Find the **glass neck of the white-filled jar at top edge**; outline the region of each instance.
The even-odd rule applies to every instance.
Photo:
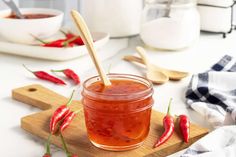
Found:
[[[159,8],[163,8],[165,9],[167,6],[167,2],[168,0],[145,0],[146,5],[153,5]],[[171,8],[189,8],[189,7],[193,7],[196,6],[197,1],[196,0],[189,0],[188,2],[173,2],[173,4],[171,4]]]

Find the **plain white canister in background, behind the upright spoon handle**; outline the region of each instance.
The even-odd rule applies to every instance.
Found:
[[[107,32],[111,37],[140,32],[143,0],[81,0],[80,10],[91,31]]]

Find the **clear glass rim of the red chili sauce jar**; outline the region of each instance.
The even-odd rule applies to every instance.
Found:
[[[152,94],[153,93],[153,84],[151,81],[149,81],[148,79],[138,76],[138,75],[132,75],[132,74],[119,74],[119,73],[110,73],[107,74],[109,79],[123,79],[123,80],[135,80],[136,82],[140,82],[143,85],[146,85],[148,88],[143,90],[143,91],[139,91],[139,92],[135,92],[132,93],[131,96],[135,97],[135,96],[139,96],[139,95],[148,95],[148,94]],[[89,90],[87,87],[91,84],[90,81],[92,81],[91,83],[97,82],[97,81],[101,81],[99,76],[93,76],[88,78],[86,81],[84,81],[83,83],[83,92],[85,92],[86,95],[92,96],[92,97],[96,97],[96,96],[102,96],[102,97],[127,97],[128,95],[130,95],[130,93],[119,93],[119,94],[108,94],[108,93],[101,93],[101,92],[94,92],[92,90]]]

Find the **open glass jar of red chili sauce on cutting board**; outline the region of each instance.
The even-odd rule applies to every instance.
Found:
[[[149,132],[152,83],[128,74],[109,74],[111,86],[98,76],[83,84],[82,103],[90,141],[106,150],[139,147]]]

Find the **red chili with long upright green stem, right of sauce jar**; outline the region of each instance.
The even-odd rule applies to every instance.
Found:
[[[171,105],[172,99],[170,99],[167,114],[163,119],[163,126],[165,128],[164,133],[161,135],[161,137],[158,139],[158,141],[154,144],[153,148],[156,148],[163,143],[165,143],[174,133],[174,117],[170,115],[170,105]]]

